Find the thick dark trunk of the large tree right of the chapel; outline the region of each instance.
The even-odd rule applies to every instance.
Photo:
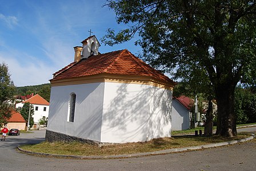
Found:
[[[226,83],[215,87],[218,105],[216,135],[223,137],[237,136],[236,117],[234,112],[234,84]]]

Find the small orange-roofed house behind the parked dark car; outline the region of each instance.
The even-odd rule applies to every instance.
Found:
[[[8,120],[7,128],[13,129],[17,128],[19,130],[25,130],[26,127],[26,120],[22,117],[21,113],[17,111],[11,112],[11,117]]]

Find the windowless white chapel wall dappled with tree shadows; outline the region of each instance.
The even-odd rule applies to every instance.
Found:
[[[170,137],[170,90],[145,84],[105,85],[102,143],[126,143]]]

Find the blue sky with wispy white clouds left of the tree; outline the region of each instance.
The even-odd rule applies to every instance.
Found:
[[[0,63],[7,64],[14,85],[50,83],[54,72],[74,61],[75,46],[95,35],[106,53],[127,49],[138,56],[135,38],[113,47],[101,38],[107,28],[121,30],[103,0],[0,0]]]

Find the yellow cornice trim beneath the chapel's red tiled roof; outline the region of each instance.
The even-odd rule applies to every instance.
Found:
[[[82,76],[78,78],[68,78],[59,80],[50,80],[51,86],[68,86],[73,84],[89,84],[89,83],[126,83],[126,84],[145,84],[159,88],[173,90],[174,84],[162,82],[161,80],[151,79],[148,76],[133,75],[113,75],[113,74],[97,74],[92,76]]]

